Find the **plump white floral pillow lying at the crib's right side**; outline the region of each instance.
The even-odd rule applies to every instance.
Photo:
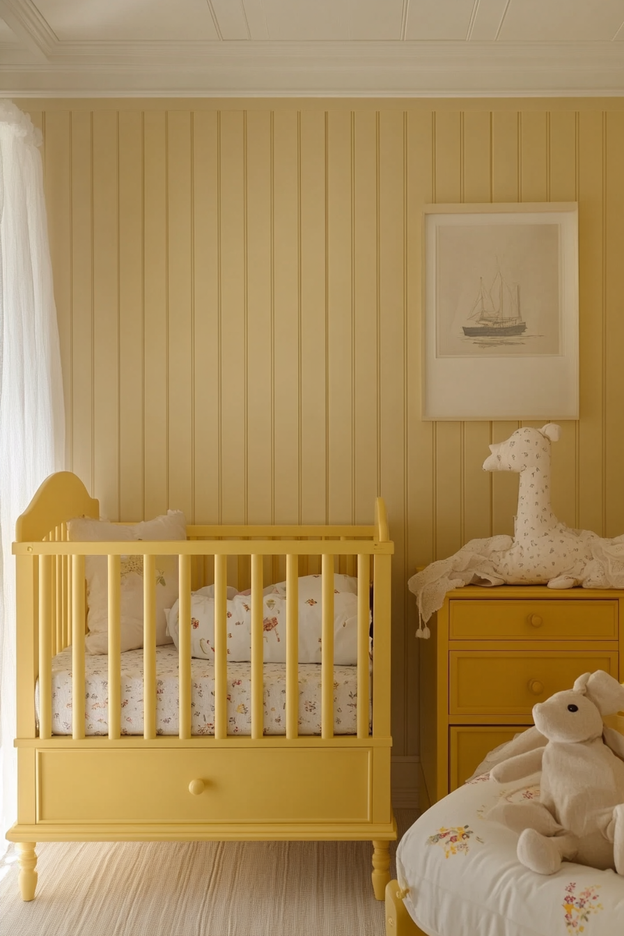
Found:
[[[321,662],[321,577],[299,578],[299,663]],[[265,663],[286,661],[286,583],[264,590]],[[168,612],[169,634],[178,641],[178,602]],[[250,592],[227,589],[227,659],[251,660],[252,599]],[[191,656],[214,659],[214,585],[191,596]],[[357,663],[357,579],[334,576],[334,663]]]

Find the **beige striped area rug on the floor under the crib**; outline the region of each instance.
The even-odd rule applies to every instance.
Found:
[[[417,812],[396,814],[400,836]],[[384,936],[371,855],[367,841],[43,843],[36,899],[23,903],[12,846],[0,866],[0,933]]]

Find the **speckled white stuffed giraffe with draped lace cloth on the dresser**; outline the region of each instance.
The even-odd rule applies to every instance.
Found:
[[[484,471],[520,476],[515,535],[472,539],[410,578],[419,616],[416,636],[429,636],[428,619],[443,606],[446,592],[462,585],[624,588],[624,535],[602,539],[589,530],[571,529],[553,513],[550,448],[559,434],[555,423],[542,429],[524,426],[505,442],[489,446]]]

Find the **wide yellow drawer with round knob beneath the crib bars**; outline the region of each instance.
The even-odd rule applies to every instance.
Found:
[[[362,822],[370,777],[366,748],[45,750],[37,822]]]

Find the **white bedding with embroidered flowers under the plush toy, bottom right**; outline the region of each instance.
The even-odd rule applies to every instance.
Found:
[[[488,774],[444,797],[414,823],[397,851],[405,905],[428,936],[615,936],[624,933],[624,878],[564,862],[551,876],[517,860],[517,834],[482,818],[500,798],[539,797],[533,783]]]

